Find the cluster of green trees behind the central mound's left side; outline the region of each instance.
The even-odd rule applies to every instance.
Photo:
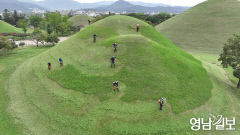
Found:
[[[68,21],[68,18],[69,16],[61,15],[59,12],[26,16],[16,10],[12,13],[7,9],[4,10],[3,15],[0,17],[1,20],[21,28],[25,33],[21,35],[30,35],[30,39],[37,46],[39,46],[39,43],[44,44],[45,42],[54,45],[58,43],[59,36],[67,36],[77,32],[78,28],[73,26]],[[29,30],[32,31],[31,34],[26,34]],[[1,40],[3,39],[1,38]],[[4,43],[6,43],[5,40]]]

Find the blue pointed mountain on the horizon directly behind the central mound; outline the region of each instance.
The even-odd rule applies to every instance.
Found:
[[[124,0],[119,0],[109,6],[95,8],[96,11],[112,11],[112,12],[127,12],[127,13],[152,13],[152,12],[168,12],[168,13],[181,13],[187,10],[188,7],[166,7],[166,6],[157,6],[157,7],[145,7],[140,5],[134,5]]]

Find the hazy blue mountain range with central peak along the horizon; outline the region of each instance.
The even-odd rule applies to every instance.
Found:
[[[144,3],[139,1],[126,2],[123,0],[114,1],[100,1],[96,3],[79,3],[75,0],[21,0],[37,4],[51,10],[77,10],[77,9],[94,9],[96,11],[112,11],[112,12],[169,12],[181,13],[188,9],[188,7],[172,7],[166,4]]]

